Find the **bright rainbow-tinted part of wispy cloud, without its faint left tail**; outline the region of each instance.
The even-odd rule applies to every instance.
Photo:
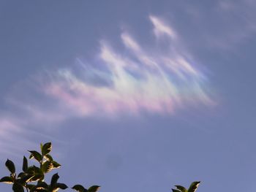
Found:
[[[158,43],[167,42],[165,53],[140,46],[123,31],[124,50],[100,43],[97,56],[102,69],[78,59],[79,72],[59,69],[45,92],[80,116],[167,114],[191,104],[214,104],[206,75],[182,48],[181,37],[162,19],[150,15],[149,20]]]

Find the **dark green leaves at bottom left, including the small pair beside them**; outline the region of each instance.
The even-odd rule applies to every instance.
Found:
[[[14,192],[56,192],[59,189],[67,189],[67,185],[64,183],[59,183],[58,173],[53,174],[50,183],[45,183],[45,174],[52,171],[53,169],[58,169],[61,165],[53,160],[50,155],[52,145],[50,142],[40,145],[41,152],[36,150],[29,150],[29,159],[34,158],[39,166],[29,166],[28,159],[23,157],[22,172],[17,173],[15,169],[15,164],[7,159],[5,166],[10,171],[10,176],[2,177],[0,182],[12,185],[12,191]],[[99,189],[98,185],[93,185],[86,189],[83,185],[74,185],[73,190],[78,192],[96,192]]]

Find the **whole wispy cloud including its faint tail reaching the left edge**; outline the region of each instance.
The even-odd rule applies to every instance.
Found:
[[[28,130],[50,138],[53,127],[72,118],[172,115],[198,104],[214,105],[206,74],[182,48],[181,37],[162,19],[150,15],[148,20],[154,32],[150,48],[123,31],[117,39],[123,48],[102,40],[89,62],[77,58],[72,66],[48,69],[19,85],[18,94],[8,95],[10,112],[0,112],[1,147],[11,137],[20,146]],[[154,45],[162,38],[165,53]],[[45,133],[37,129],[42,125]]]

